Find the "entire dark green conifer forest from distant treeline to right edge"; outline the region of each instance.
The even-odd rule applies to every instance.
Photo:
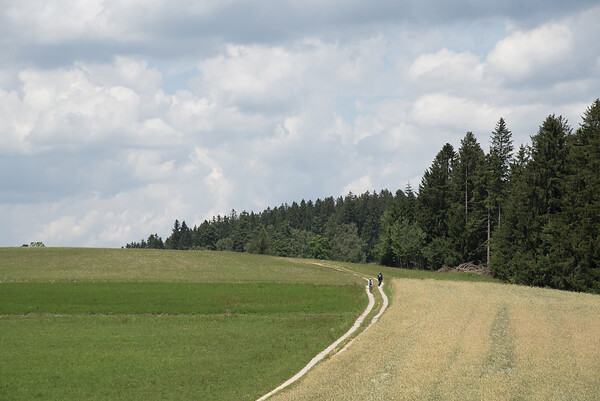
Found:
[[[222,250],[439,269],[472,262],[511,283],[600,293],[600,99],[573,130],[549,115],[515,149],[500,118],[486,153],[472,132],[410,185],[262,212],[175,220],[128,248]]]

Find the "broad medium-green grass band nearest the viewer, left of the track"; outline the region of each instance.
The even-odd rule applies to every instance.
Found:
[[[354,313],[0,318],[0,399],[255,400]]]

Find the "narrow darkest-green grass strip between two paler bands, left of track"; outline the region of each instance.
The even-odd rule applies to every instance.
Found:
[[[361,285],[290,283],[0,283],[0,315],[345,313]]]

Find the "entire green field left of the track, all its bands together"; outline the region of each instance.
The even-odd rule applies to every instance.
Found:
[[[0,249],[0,399],[256,399],[366,303],[359,278],[310,261]]]

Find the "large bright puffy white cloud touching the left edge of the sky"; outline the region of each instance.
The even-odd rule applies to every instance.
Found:
[[[0,89],[4,152],[49,151],[67,144],[76,150],[126,143],[128,138],[164,146],[181,136],[169,120],[179,122],[184,113],[177,110],[187,103],[166,96],[161,74],[145,61],[118,57],[113,64],[27,69],[19,79],[20,90]],[[202,126],[198,118],[194,123]]]

